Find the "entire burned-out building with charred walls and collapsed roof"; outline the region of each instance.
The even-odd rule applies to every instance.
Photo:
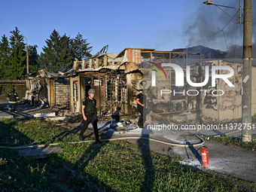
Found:
[[[168,63],[179,66],[183,72],[176,76]],[[212,86],[211,75],[202,87],[191,86],[190,82],[205,81],[206,66],[209,66],[209,74],[212,74],[212,66],[231,67],[234,75],[229,81],[234,87],[227,86],[221,78]],[[125,48],[118,54],[100,51],[90,59],[76,60],[69,72],[50,74],[41,70],[29,75],[26,81],[30,94],[35,94],[37,87],[32,82],[40,82],[41,99],[50,107],[67,106],[73,113],[81,113],[82,102],[88,90],[93,88],[100,117],[135,119],[139,114],[136,96],[148,89],[148,114],[158,114],[169,122],[242,117],[242,64],[220,59],[203,60],[200,53],[138,48]],[[176,81],[183,84],[176,86]],[[252,81],[254,84],[254,76]],[[252,115],[254,112],[256,104],[252,102]]]

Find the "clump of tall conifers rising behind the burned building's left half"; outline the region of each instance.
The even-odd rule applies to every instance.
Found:
[[[70,38],[66,34],[59,35],[54,29],[50,38],[43,47],[43,53],[38,56],[39,69],[47,72],[66,72],[72,69],[75,58],[78,60],[88,59],[92,47],[89,47],[87,39],[78,32],[75,38]]]

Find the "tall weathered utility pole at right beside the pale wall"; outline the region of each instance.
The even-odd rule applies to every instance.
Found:
[[[251,142],[251,0],[244,0],[242,54],[242,142]]]

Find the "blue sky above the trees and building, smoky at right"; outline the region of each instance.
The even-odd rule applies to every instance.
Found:
[[[38,45],[38,53],[54,29],[71,38],[80,32],[93,46],[92,54],[107,44],[108,53],[120,53],[126,47],[172,50],[200,44],[227,50],[233,44],[242,45],[242,25],[216,6],[203,2],[1,0],[0,36],[9,38],[17,26],[30,45]],[[239,7],[239,0],[213,2]],[[256,20],[255,2],[252,0],[252,20]],[[235,9],[223,9],[236,14]],[[210,35],[213,36],[208,38]]]

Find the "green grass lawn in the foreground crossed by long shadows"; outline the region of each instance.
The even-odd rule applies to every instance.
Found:
[[[87,139],[94,140],[93,134]],[[0,191],[255,191],[256,184],[178,163],[178,157],[127,142],[78,141],[78,132],[45,120],[0,122],[0,145],[61,142],[59,154],[23,157],[0,148]]]

